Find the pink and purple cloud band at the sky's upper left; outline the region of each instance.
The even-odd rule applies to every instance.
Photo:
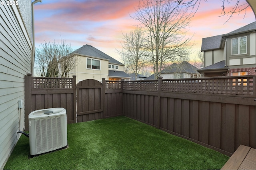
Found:
[[[39,12],[52,11],[51,17],[56,17],[59,20],[106,21],[122,18],[134,12],[134,6],[137,3],[137,0],[66,1],[38,5],[35,9]]]

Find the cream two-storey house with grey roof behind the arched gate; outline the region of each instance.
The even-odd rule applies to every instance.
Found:
[[[106,80],[130,79],[130,76],[124,72],[124,64],[91,45],[86,44],[72,53],[79,62],[69,75],[76,75],[78,82],[85,79],[95,79],[101,82],[102,78]]]

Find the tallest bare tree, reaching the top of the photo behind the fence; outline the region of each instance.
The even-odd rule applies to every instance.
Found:
[[[154,66],[155,78],[165,63],[188,56],[191,37],[186,36],[191,18],[190,8],[173,0],[142,0],[134,19],[147,33],[147,47]]]

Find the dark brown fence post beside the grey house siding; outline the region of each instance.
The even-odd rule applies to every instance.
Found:
[[[24,107],[25,107],[25,131],[28,131],[28,115],[32,112],[32,74],[28,73],[25,78],[25,100],[24,100]]]

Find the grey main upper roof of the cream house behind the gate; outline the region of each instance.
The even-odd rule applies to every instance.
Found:
[[[113,59],[112,57],[110,57],[109,55],[103,53],[102,51],[96,49],[95,47],[92,47],[92,45],[83,45],[82,47],[80,47],[79,49],[73,51],[74,54],[80,54],[80,55],[86,55],[86,56],[90,56],[90,57],[96,57],[99,59],[105,59],[108,60],[108,63],[111,64],[118,64],[118,65],[124,65],[122,63],[120,63],[119,61],[117,61],[116,59]]]

